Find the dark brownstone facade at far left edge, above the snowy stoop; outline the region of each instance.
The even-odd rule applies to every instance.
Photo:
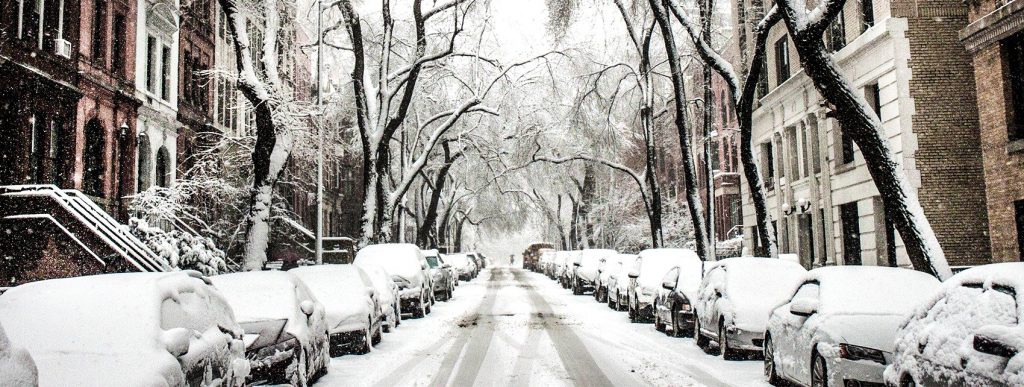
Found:
[[[74,186],[79,12],[0,0],[0,185]]]

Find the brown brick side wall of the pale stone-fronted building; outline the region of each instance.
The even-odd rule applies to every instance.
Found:
[[[908,22],[921,205],[951,265],[987,263],[974,71],[957,35],[967,26],[967,7],[957,0],[915,8],[893,1],[893,15]]]

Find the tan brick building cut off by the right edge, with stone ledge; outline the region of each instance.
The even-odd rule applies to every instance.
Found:
[[[966,3],[992,261],[1024,260],[1024,1]]]

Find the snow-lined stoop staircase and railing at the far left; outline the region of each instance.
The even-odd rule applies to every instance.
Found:
[[[163,258],[135,238],[128,227],[79,190],[61,189],[48,184],[0,186],[0,219],[27,218],[49,219],[75,240],[102,245],[90,246],[91,250],[111,251],[138,271],[172,270]],[[83,232],[88,235],[82,234]],[[95,255],[91,251],[90,254]]]

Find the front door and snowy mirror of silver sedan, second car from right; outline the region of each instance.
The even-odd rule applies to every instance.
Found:
[[[820,302],[820,296],[821,285],[816,281],[807,282],[800,286],[787,305],[792,306],[794,301],[799,300]],[[811,346],[815,338],[814,333],[810,332],[809,329],[814,326],[814,320],[821,317],[818,313],[798,315],[792,311],[783,310],[783,312],[786,312],[783,337],[776,339],[774,345],[779,349],[784,348],[784,352],[780,354],[787,359],[787,361],[782,361],[788,365],[785,368],[785,375],[797,382],[809,385],[811,380]]]

